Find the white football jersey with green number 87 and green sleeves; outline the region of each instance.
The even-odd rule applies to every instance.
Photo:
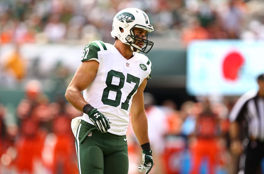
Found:
[[[125,135],[132,98],[143,80],[151,77],[151,62],[140,53],[127,60],[112,44],[102,41],[84,47],[82,62],[89,60],[98,61],[99,68],[92,84],[83,91],[84,99],[112,121],[108,132]],[[82,119],[93,124],[85,113]]]

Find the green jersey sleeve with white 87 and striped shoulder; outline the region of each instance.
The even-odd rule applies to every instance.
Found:
[[[102,50],[107,50],[105,44],[102,41],[93,41],[85,45],[82,54],[82,62],[88,60],[98,61],[98,52]]]

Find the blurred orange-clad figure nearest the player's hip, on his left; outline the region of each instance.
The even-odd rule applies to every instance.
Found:
[[[78,173],[74,136],[71,133],[71,114],[67,113],[64,97],[51,103],[54,119],[52,133],[46,136],[42,150],[43,166],[51,173]]]

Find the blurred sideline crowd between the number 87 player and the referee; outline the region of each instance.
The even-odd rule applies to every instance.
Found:
[[[202,97],[178,107],[165,100],[157,105],[155,96],[144,93],[148,134],[153,150],[154,174],[233,174],[237,172],[229,150],[228,114],[234,104]],[[130,166],[140,158],[135,136],[128,130]],[[134,141],[131,141],[134,140]],[[132,158],[133,157],[133,158]],[[130,167],[131,174],[138,174]]]

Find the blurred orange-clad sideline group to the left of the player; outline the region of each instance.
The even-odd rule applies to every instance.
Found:
[[[42,88],[29,81],[16,112],[0,103],[0,173],[78,173],[71,119],[82,113],[64,96],[50,102]]]

